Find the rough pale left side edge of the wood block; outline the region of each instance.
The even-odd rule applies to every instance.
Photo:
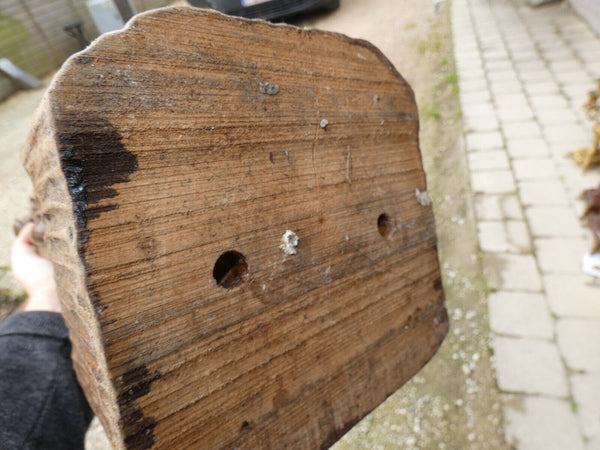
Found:
[[[55,79],[56,80],[56,79]],[[80,233],[62,171],[50,112],[52,86],[34,114],[21,160],[33,180],[33,220],[45,224],[43,251],[55,270],[63,316],[70,330],[73,366],[113,448],[123,448],[117,395],[104,356],[100,324],[87,291]]]

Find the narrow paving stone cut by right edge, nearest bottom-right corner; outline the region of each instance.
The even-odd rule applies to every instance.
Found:
[[[573,374],[570,380],[583,435],[600,443],[600,374]]]

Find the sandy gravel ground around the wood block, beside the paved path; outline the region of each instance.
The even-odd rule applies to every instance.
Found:
[[[488,345],[486,286],[461,140],[448,4],[435,13],[433,1],[341,3],[338,11],[299,24],[372,42],[415,91],[451,330],[432,361],[335,448],[507,448]],[[0,236],[5,237],[0,239],[0,266],[8,265],[12,218],[30,192],[18,150],[41,94],[21,93],[0,105]],[[0,287],[15,288],[1,271]],[[88,433],[86,448],[109,448],[98,424]]]

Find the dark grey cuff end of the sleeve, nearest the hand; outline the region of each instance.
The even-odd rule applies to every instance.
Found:
[[[56,339],[69,337],[62,314],[50,311],[23,311],[11,314],[0,323],[0,336],[27,334]]]

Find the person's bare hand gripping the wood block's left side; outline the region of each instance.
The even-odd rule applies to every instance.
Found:
[[[33,227],[31,222],[26,224],[17,235],[12,248],[13,276],[27,292],[27,299],[19,309],[61,312],[54,267],[50,261],[40,256],[31,240]]]

